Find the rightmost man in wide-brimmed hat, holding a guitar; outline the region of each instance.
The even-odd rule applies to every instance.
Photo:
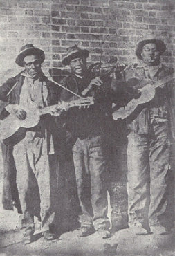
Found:
[[[136,55],[142,64],[127,68],[127,84],[140,89],[171,74],[172,69],[160,63],[165,48],[158,39],[140,42]],[[174,136],[172,81],[159,86],[153,100],[140,105],[128,122],[129,226],[136,234],[150,232],[150,228],[163,234],[172,227],[168,211],[170,138]]]

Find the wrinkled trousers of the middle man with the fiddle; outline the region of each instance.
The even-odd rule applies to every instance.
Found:
[[[82,214],[82,227],[109,228],[107,217],[107,161],[102,136],[77,138],[73,146],[73,161],[77,194]]]

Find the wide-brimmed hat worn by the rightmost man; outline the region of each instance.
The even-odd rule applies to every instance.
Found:
[[[162,40],[158,40],[158,39],[143,40],[138,43],[138,46],[136,48],[136,55],[140,60],[142,60],[141,53],[142,53],[142,48],[143,46],[145,46],[145,44],[156,44],[158,51],[160,51],[160,55],[163,54],[166,50],[166,46]]]

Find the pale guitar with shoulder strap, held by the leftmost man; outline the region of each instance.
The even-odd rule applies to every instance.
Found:
[[[78,100],[72,100],[70,102],[61,102],[59,104],[44,107],[42,109],[36,109],[35,106],[31,105],[27,108],[22,107],[26,111],[26,118],[24,120],[19,120],[15,114],[10,113],[6,118],[0,120],[0,140],[9,138],[19,128],[32,128],[35,127],[39,120],[40,116],[47,113],[51,113],[55,110],[62,111],[70,109],[71,107],[89,107],[94,104],[93,97],[81,98]]]

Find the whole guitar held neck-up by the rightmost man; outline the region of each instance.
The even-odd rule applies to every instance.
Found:
[[[146,84],[144,87],[139,89],[141,95],[138,99],[132,99],[127,104],[126,107],[120,107],[120,109],[112,113],[113,120],[125,119],[133,113],[133,111],[138,107],[139,104],[144,104],[151,101],[156,93],[156,88],[162,86],[163,84],[173,80],[175,78],[175,72],[161,80],[158,80],[154,84]],[[113,104],[113,109],[115,109],[115,104]]]

